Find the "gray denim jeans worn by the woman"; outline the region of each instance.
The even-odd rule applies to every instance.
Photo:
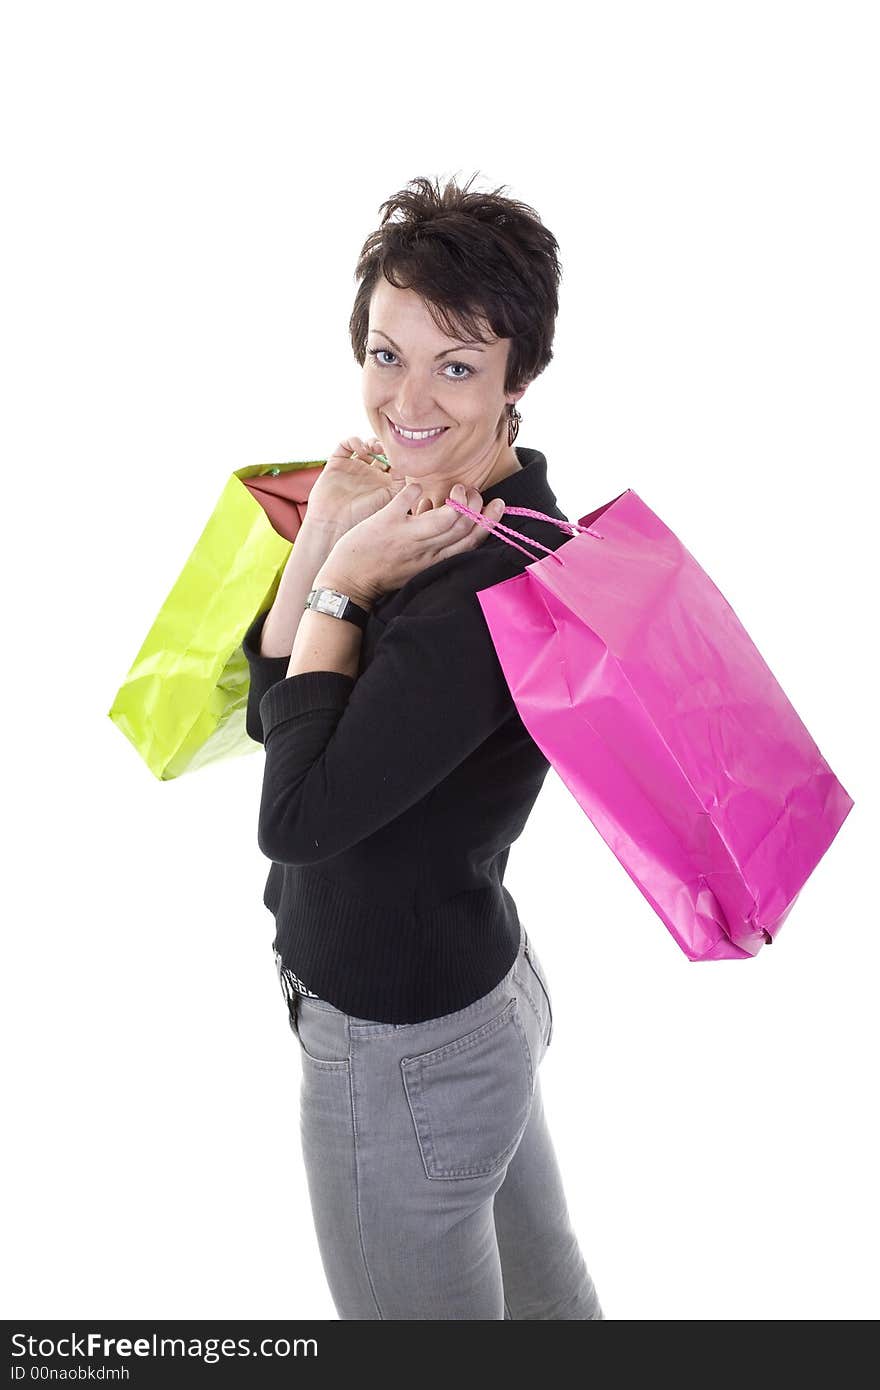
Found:
[[[285,994],[314,1229],[343,1319],[603,1319],[538,1068],[552,1034],[525,929],[505,979],[423,1023]]]

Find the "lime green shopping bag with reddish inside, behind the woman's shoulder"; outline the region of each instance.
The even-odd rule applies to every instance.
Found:
[[[242,638],[271,606],[325,459],[238,468],[107,712],[161,781],[254,752]]]

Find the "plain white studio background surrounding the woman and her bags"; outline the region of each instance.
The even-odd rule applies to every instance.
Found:
[[[549,773],[506,883],[581,1247],[609,1319],[877,1316],[874,21],[7,8],[6,1316],[336,1316],[263,753],[160,783],[107,710],[232,470],[367,428],[382,199],[474,171],[560,243],[519,443],[673,527],[856,803],[776,944],[695,965]]]

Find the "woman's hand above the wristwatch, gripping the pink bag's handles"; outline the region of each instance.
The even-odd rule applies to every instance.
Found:
[[[460,482],[449,496],[489,521],[498,521],[505,512],[500,498],[487,503],[484,510],[477,489],[466,489]],[[407,514],[410,509],[412,516]],[[475,550],[488,534],[487,527],[446,503],[432,507],[431,499],[421,496],[420,484],[410,482],[336,541],[314,582],[370,605],[438,560]]]

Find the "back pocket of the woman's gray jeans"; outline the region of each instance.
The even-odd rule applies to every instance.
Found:
[[[516,997],[494,1019],[430,1052],[400,1059],[428,1177],[499,1172],[531,1111],[531,1054]]]

